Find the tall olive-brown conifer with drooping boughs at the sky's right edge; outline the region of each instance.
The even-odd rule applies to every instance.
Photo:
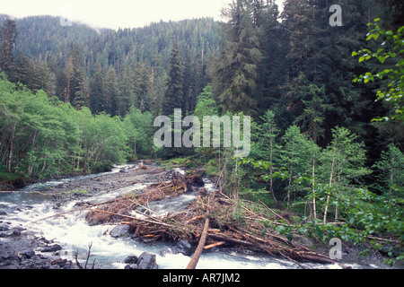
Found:
[[[223,111],[255,113],[254,99],[258,65],[259,29],[252,17],[254,6],[248,0],[234,0],[224,10],[224,43],[212,63],[215,97]]]

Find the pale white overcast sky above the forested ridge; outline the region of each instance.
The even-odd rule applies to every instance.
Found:
[[[233,0],[0,0],[0,13],[16,18],[36,15],[62,17],[95,28],[137,28],[151,22],[221,18]],[[277,0],[282,3],[282,0]]]

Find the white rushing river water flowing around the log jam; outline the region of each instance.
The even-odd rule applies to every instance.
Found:
[[[133,166],[131,166],[133,167]],[[119,172],[127,166],[119,166],[108,173],[90,175],[85,177],[101,177],[106,174]],[[156,263],[162,269],[184,268],[189,263],[190,257],[182,254],[165,254],[162,256],[163,248],[173,248],[170,243],[145,243],[131,238],[112,238],[109,231],[116,225],[90,226],[85,222],[85,213],[66,213],[61,216],[54,216],[57,213],[69,212],[75,209],[75,204],[82,202],[83,198],[70,202],[66,206],[54,209],[52,196],[27,193],[32,190],[56,186],[68,181],[79,180],[85,177],[65,178],[51,180],[40,185],[33,185],[22,189],[21,193],[0,194],[0,212],[6,215],[4,220],[11,222],[12,226],[22,226],[26,230],[41,234],[46,239],[53,239],[63,249],[61,257],[74,260],[78,252],[79,259],[85,261],[89,244],[92,243],[91,258],[96,259],[97,268],[124,268],[124,260],[128,256],[140,256],[147,251],[156,255]],[[205,187],[208,192],[214,190],[214,185],[205,180]],[[108,194],[86,197],[84,201],[91,203],[103,202],[113,199],[116,196],[124,195],[133,189],[146,187],[147,183],[136,184],[131,187],[116,189]],[[189,192],[178,198],[162,200],[150,204],[156,213],[167,213],[178,211],[189,204],[198,195],[197,192]],[[339,268],[338,265],[305,264],[309,268]],[[353,265],[353,267],[358,267]],[[203,253],[198,262],[201,269],[281,269],[298,268],[297,265],[286,260],[268,257],[251,256],[236,253],[234,251],[212,251]]]

